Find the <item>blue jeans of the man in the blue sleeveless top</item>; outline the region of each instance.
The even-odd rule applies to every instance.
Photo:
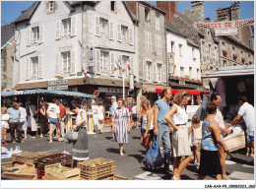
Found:
[[[158,144],[162,141],[163,154],[164,154],[164,167],[169,165],[170,161],[170,141],[169,141],[169,126],[158,122],[159,135]]]

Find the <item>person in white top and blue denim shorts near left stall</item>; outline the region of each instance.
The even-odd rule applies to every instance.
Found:
[[[48,121],[49,121],[49,127],[50,127],[50,131],[49,131],[49,138],[50,138],[50,142],[52,143],[52,128],[53,125],[56,126],[57,128],[57,132],[58,132],[58,141],[64,141],[63,138],[60,138],[60,108],[59,106],[56,104],[56,98],[52,99],[52,103],[48,106],[47,109],[47,116],[48,116]]]

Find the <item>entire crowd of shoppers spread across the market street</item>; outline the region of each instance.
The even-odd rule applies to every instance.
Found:
[[[112,139],[119,144],[119,154],[124,156],[124,144],[128,144],[128,134],[132,127],[141,126],[140,144],[148,152],[153,143],[154,136],[158,136],[158,145],[163,150],[163,169],[169,170],[173,164],[173,176],[171,179],[179,180],[182,171],[193,159],[198,168],[198,179],[204,179],[206,175],[214,175],[216,179],[226,179],[225,158],[227,148],[224,145],[224,136],[230,134],[232,125],[241,122],[246,124],[247,154],[254,157],[254,107],[247,102],[246,96],[239,96],[240,105],[237,116],[230,122],[224,123],[224,116],[219,106],[222,96],[213,93],[211,97],[204,96],[201,106],[194,113],[191,125],[186,112],[188,93],[179,91],[176,95],[171,90],[163,89],[153,106],[146,96],[141,96],[141,103],[137,107],[133,101],[133,107],[127,101],[111,96],[110,123]],[[72,156],[75,160],[89,159],[88,146],[88,118],[87,113],[79,105],[71,104],[70,110],[76,115],[76,123],[72,129],[79,132],[78,140],[73,142]],[[1,144],[7,145],[6,131],[10,127],[11,142],[24,143],[27,139],[28,122],[27,114],[30,113],[22,103],[14,102],[12,107],[1,107]],[[56,128],[58,141],[63,141],[66,108],[56,98],[52,103],[40,101],[35,111],[40,126],[40,137],[48,131],[49,143],[52,144],[52,133]],[[102,101],[96,106],[98,131],[102,132],[105,110]],[[138,124],[140,122],[140,124]],[[22,136],[24,131],[24,137]],[[189,142],[189,134],[192,133],[193,142]],[[18,139],[16,140],[16,137]]]

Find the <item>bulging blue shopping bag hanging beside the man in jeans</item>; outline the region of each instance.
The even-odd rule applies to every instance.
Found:
[[[158,135],[154,136],[151,149],[143,159],[143,164],[147,168],[159,168],[163,163],[163,158],[160,155],[160,147],[158,145]]]

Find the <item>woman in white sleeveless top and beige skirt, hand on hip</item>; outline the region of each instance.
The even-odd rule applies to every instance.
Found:
[[[185,91],[179,91],[174,95],[174,105],[164,116],[168,124],[173,127],[172,147],[173,147],[173,176],[171,179],[180,180],[182,170],[192,159],[191,150],[188,142],[187,122],[188,116],[184,105],[186,105],[188,94]],[[172,119],[171,119],[172,118]],[[185,157],[182,161],[181,158]]]

